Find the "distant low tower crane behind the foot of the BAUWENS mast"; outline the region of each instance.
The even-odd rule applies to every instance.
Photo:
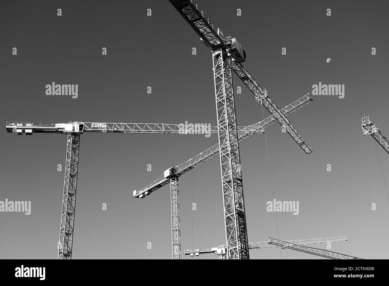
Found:
[[[334,241],[347,241],[347,238],[345,235],[343,235],[343,236],[312,238],[312,239],[302,239],[302,240],[287,240],[286,242],[291,244],[296,244],[296,245],[303,245],[303,244],[316,244],[316,243],[334,242]],[[278,246],[269,244],[268,241],[249,242],[249,249],[272,248],[272,247],[278,247]],[[216,253],[217,255],[219,255],[219,259],[226,259],[226,251],[227,248],[225,245],[219,245],[219,246],[209,247],[209,248],[187,249],[185,251],[185,255],[199,256],[200,254],[205,254],[205,253]]]

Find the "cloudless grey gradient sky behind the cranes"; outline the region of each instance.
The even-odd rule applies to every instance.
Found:
[[[275,198],[300,202],[299,215],[278,213],[281,239],[347,235],[349,241],[333,242],[333,251],[388,258],[389,202],[375,141],[363,136],[361,118],[369,115],[389,136],[389,2],[197,2],[224,36],[242,44],[244,66],[279,108],[319,82],[345,85],[343,99],[314,96],[288,116],[312,154],[306,155],[278,123],[266,128]],[[211,52],[168,1],[2,1],[0,33],[3,124],[187,120],[216,125]],[[78,84],[78,98],[46,96],[51,82]],[[235,75],[234,86],[242,86],[242,94],[236,94],[238,125],[260,121],[261,106]],[[66,137],[0,132],[0,201],[32,204],[29,216],[0,213],[0,258],[57,258],[64,177],[57,164],[65,165]],[[72,258],[171,258],[169,185],[145,199],[133,198],[132,192],[216,143],[216,134],[84,133]],[[266,211],[272,193],[265,135],[242,141],[240,151],[249,241],[266,241],[277,232],[274,213]],[[378,156],[388,175],[389,156],[380,146]],[[179,183],[182,258],[189,258],[185,249],[224,244],[218,157]],[[276,248],[250,255],[281,258]],[[317,258],[291,251],[282,256]]]

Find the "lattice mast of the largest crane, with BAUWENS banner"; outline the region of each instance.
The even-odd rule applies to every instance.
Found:
[[[219,129],[219,155],[227,257],[229,259],[249,259],[230,59],[224,48],[214,52],[212,56],[214,59],[217,127]]]

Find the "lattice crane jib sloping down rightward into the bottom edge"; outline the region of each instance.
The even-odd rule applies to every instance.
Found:
[[[301,252],[305,252],[305,253],[309,253],[309,254],[313,254],[313,255],[317,255],[317,256],[322,256],[322,257],[326,257],[326,258],[331,258],[331,259],[363,259],[363,258],[357,258],[357,257],[350,256],[350,255],[345,255],[342,253],[328,251],[326,249],[319,249],[319,248],[297,245],[297,244],[293,244],[293,243],[290,243],[287,241],[282,241],[282,240],[274,239],[274,238],[270,238],[270,237],[269,237],[268,243],[274,244],[276,246],[281,246],[282,249],[289,248],[289,249],[293,249],[296,251],[301,251]]]

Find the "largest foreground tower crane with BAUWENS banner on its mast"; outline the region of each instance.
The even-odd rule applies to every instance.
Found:
[[[216,30],[194,0],[169,2],[212,50],[227,258],[249,259],[232,71],[305,153],[312,150],[269,98],[266,89],[262,89],[245,69],[242,63],[246,60],[246,52],[236,38],[224,37],[220,28]]]

